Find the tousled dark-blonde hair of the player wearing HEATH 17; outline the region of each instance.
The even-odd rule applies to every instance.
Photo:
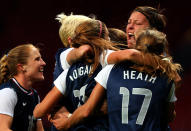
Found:
[[[166,74],[169,80],[174,80],[177,72],[181,71],[182,68],[180,64],[173,63],[172,57],[169,54],[166,56],[166,51],[168,51],[166,34],[155,29],[142,30],[138,34],[136,49],[144,53],[143,59],[144,57],[150,58],[150,67],[152,68],[148,68],[145,64],[144,66],[136,65],[134,68],[151,74]],[[152,59],[149,55],[152,55]]]

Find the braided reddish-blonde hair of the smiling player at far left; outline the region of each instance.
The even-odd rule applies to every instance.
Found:
[[[17,74],[17,64],[27,64],[32,44],[23,44],[11,49],[0,59],[0,84]]]

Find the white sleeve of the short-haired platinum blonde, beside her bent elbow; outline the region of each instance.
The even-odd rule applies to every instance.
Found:
[[[71,50],[73,50],[73,48],[68,48],[67,50],[65,50],[64,52],[62,52],[62,53],[60,54],[60,62],[61,62],[61,66],[62,66],[62,69],[63,69],[63,70],[66,70],[66,69],[70,68],[69,63],[68,63],[67,60],[66,60],[66,57],[67,57],[68,53],[69,53]]]

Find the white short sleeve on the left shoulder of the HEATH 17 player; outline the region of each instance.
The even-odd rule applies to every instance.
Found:
[[[107,80],[109,78],[109,74],[111,69],[113,68],[113,64],[112,65],[107,65],[105,68],[103,68],[95,77],[95,80],[103,86],[103,88],[107,88]]]

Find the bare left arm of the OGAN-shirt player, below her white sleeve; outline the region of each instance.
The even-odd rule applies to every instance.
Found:
[[[48,114],[62,97],[63,94],[57,89],[57,87],[53,87],[42,102],[36,105],[33,111],[34,117],[40,118]]]

